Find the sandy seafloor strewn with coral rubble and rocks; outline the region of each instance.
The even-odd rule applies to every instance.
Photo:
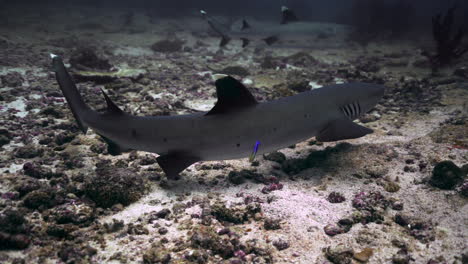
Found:
[[[462,183],[429,184],[444,160],[465,165],[466,177],[466,59],[431,75],[419,55],[429,38],[361,47],[342,36],[304,36],[219,49],[195,16],[150,23],[137,12],[121,27],[120,11],[62,11],[26,10],[0,30],[0,239],[13,245],[2,246],[0,263],[466,263]],[[164,39],[183,40],[183,50],[151,49]],[[360,120],[371,135],[311,139],[253,164],[200,162],[170,181],[156,155],[111,156],[96,134],[77,129],[49,53],[68,63],[82,46],[117,68],[141,70],[78,84],[93,107],[104,107],[105,88],[137,115],[208,110],[212,75],[228,66],[247,70],[234,76],[259,101],[336,82],[388,89]],[[466,180],[464,188],[466,195]],[[331,203],[332,192],[345,200]]]

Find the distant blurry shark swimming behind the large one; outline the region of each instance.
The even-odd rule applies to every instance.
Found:
[[[350,26],[300,21],[296,14],[285,6],[281,7],[281,21],[277,25],[259,22],[252,24],[246,19],[241,20],[240,24],[225,25],[205,10],[200,10],[200,14],[210,28],[221,37],[220,47],[226,46],[233,38],[241,40],[242,47],[245,48],[254,38],[270,46],[283,41],[303,40],[304,37],[334,36],[350,32]]]

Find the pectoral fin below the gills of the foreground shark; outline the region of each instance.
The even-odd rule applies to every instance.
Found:
[[[316,136],[317,141],[330,142],[343,139],[353,139],[374,132],[372,129],[360,126],[353,121],[342,118],[329,123]]]

